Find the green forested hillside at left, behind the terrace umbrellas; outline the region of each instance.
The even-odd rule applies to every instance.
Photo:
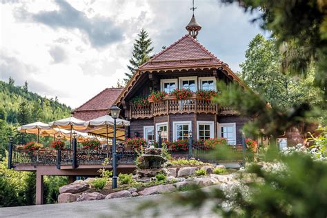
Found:
[[[47,123],[70,116],[71,108],[59,103],[57,97],[48,99],[28,90],[28,83],[15,86],[14,79],[0,81],[0,150],[7,147],[8,137],[25,143],[29,137],[17,134],[17,126],[42,121]]]

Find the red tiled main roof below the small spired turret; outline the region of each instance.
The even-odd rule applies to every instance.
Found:
[[[155,57],[139,66],[139,70],[179,68],[186,66],[219,66],[224,64],[190,34],[186,34]]]

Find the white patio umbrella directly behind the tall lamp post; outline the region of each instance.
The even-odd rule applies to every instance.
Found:
[[[104,115],[102,117],[91,119],[89,121],[86,121],[84,125],[89,127],[97,126],[97,127],[106,128],[106,142],[108,146],[108,126],[114,126],[114,119],[110,115]],[[130,121],[124,119],[116,119],[116,126],[117,127],[130,126]]]

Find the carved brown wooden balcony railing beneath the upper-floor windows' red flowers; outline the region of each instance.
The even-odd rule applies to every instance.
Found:
[[[219,108],[217,103],[197,99],[195,95],[183,100],[177,100],[174,97],[167,96],[162,101],[150,102],[148,106],[130,106],[131,119],[144,119],[183,113],[205,113],[226,116],[236,115],[238,112],[228,107]]]

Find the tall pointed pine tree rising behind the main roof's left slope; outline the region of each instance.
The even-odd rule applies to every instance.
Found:
[[[150,47],[152,44],[152,39],[148,37],[148,32],[142,29],[138,34],[139,39],[135,39],[134,50],[132,52],[132,58],[130,59],[130,66],[127,66],[130,73],[126,72],[125,75],[127,79],[123,79],[125,82],[128,82],[132,75],[134,75],[135,70],[141,64],[145,63],[150,59],[150,53],[153,50],[153,47]]]

